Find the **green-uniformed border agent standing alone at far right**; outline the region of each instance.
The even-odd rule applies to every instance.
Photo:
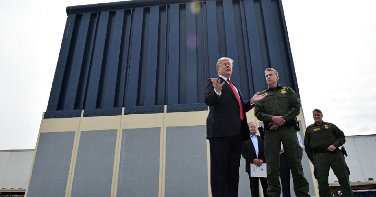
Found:
[[[332,168],[342,188],[344,197],[354,197],[350,186],[350,169],[339,147],[345,143],[341,129],[330,122],[323,122],[320,110],[313,110],[315,123],[305,132],[304,145],[309,160],[314,165],[314,175],[318,181],[320,197],[331,197],[329,188],[329,167]]]

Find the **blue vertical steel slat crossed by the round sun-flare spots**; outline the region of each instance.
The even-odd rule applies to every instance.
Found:
[[[197,103],[196,14],[191,6],[196,3],[186,3],[186,103]]]

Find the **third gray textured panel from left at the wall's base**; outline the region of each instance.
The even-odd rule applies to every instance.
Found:
[[[124,129],[117,196],[158,196],[161,128]]]

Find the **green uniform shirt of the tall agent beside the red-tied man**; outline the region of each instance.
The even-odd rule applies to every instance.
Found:
[[[288,122],[300,113],[300,100],[291,87],[267,87],[260,92],[269,95],[255,105],[255,116],[262,122],[271,122],[271,117],[282,116]]]

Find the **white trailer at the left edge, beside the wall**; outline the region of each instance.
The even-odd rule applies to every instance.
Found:
[[[0,150],[0,195],[26,191],[34,149]]]

